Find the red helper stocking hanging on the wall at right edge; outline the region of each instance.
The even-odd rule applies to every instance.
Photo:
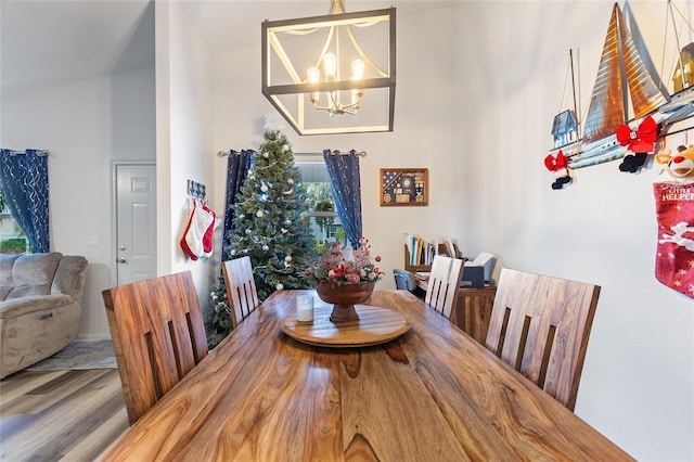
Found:
[[[655,277],[694,298],[694,183],[655,183],[658,220]]]

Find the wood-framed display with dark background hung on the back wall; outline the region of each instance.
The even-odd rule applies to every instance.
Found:
[[[382,168],[381,205],[428,205],[427,168]]]

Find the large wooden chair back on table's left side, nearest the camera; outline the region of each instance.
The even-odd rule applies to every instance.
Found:
[[[207,356],[190,271],[102,292],[132,425]]]

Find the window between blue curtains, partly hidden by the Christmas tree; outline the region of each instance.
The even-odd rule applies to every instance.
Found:
[[[301,182],[306,188],[306,202],[311,220],[311,232],[317,244],[338,241],[346,244],[345,230],[335,209],[335,200],[330,187],[327,168],[323,163],[297,163]]]

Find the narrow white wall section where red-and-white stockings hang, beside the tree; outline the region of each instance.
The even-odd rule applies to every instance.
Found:
[[[188,180],[203,183],[215,198],[213,176],[213,80],[210,53],[178,2],[157,2],[157,271],[190,270],[205,310],[209,260],[190,260],[180,246],[188,219]]]

